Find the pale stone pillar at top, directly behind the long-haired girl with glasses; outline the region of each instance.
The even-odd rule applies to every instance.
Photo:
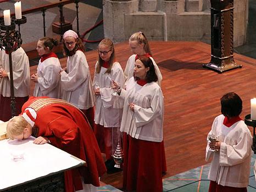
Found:
[[[125,14],[138,12],[139,0],[103,0],[104,35],[114,42],[127,41]]]

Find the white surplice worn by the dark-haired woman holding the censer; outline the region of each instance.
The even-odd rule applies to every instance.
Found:
[[[136,139],[162,142],[164,97],[159,85],[151,82],[140,86],[131,77],[120,97],[125,99],[121,132]],[[129,108],[129,103],[135,104],[134,111]]]

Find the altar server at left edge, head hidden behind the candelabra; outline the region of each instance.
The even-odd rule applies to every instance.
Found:
[[[14,44],[17,46],[17,44]],[[13,84],[16,114],[21,112],[22,105],[29,99],[30,93],[30,70],[29,58],[23,48],[12,52]],[[9,53],[0,50],[0,120],[8,121],[12,117],[10,106],[10,69]]]

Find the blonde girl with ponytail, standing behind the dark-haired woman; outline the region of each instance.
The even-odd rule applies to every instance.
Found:
[[[126,83],[133,76],[133,68],[135,65],[135,61],[138,59],[138,57],[143,55],[152,60],[155,67],[155,73],[157,74],[158,77],[157,83],[160,86],[163,77],[157,64],[152,58],[151,49],[149,47],[148,39],[146,38],[145,34],[143,32],[133,33],[129,38],[129,47],[133,55],[131,55],[130,58],[127,60],[127,64],[124,71]]]

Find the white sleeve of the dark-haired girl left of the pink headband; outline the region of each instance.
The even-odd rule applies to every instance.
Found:
[[[40,86],[42,95],[47,95],[59,83],[59,67],[49,65],[43,69],[43,77],[38,77],[38,85]]]

